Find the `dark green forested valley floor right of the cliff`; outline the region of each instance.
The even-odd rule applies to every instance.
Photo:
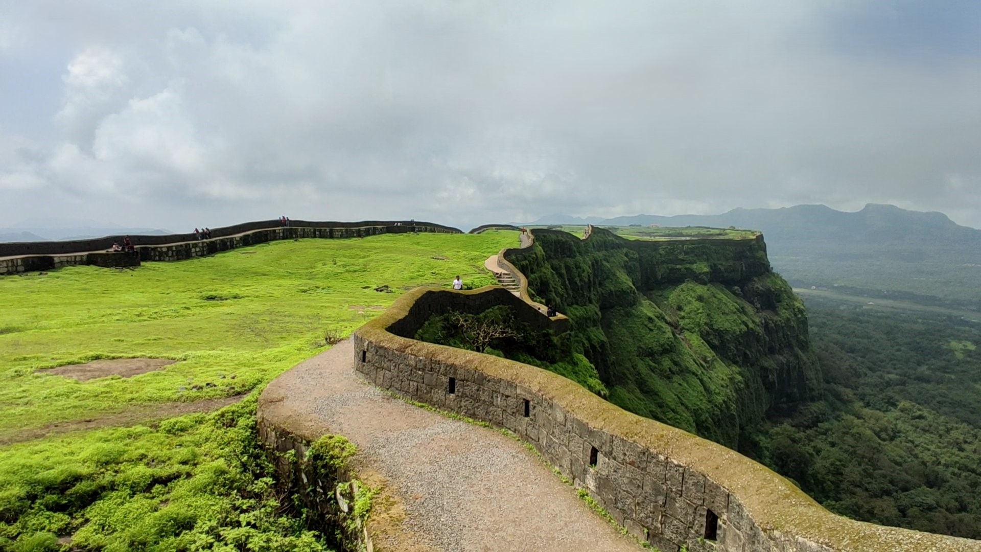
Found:
[[[774,418],[761,460],[829,509],[981,538],[981,326],[808,300],[822,400]]]

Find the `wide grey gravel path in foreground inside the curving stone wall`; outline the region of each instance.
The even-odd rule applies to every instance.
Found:
[[[306,437],[344,435],[355,469],[386,479],[404,511],[384,550],[602,550],[640,546],[595,515],[517,441],[392,399],[351,367],[349,341],[277,378],[261,415]]]

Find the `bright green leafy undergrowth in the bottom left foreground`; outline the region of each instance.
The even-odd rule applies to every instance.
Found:
[[[253,395],[157,430],[110,429],[5,449],[0,548],[58,550],[57,535],[72,535],[73,546],[107,551],[327,550],[316,524],[277,491],[257,442],[255,407]],[[312,454],[343,459],[345,443],[335,438]]]

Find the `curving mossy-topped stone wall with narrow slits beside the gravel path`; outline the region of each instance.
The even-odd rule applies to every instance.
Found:
[[[831,514],[735,451],[630,414],[541,368],[404,337],[449,304],[500,296],[488,288],[434,293],[409,292],[357,330],[356,369],[404,397],[513,431],[660,550],[981,552],[981,541]]]

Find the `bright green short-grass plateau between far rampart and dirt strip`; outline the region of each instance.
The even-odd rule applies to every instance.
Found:
[[[0,278],[0,437],[126,405],[248,392],[323,351],[326,331],[350,333],[406,289],[448,287],[456,274],[493,283],[484,260],[516,235],[304,240],[132,271],[78,266]],[[37,371],[133,357],[180,361],[86,382]],[[192,389],[207,383],[215,386]]]

